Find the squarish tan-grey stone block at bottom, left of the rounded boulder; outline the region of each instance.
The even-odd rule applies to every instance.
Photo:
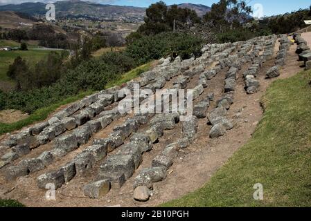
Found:
[[[100,198],[110,191],[110,183],[107,180],[91,182],[83,187],[83,192],[89,198]]]

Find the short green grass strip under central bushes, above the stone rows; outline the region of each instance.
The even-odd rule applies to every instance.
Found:
[[[122,77],[116,81],[112,81],[105,88],[111,88],[112,86],[121,86],[122,84],[125,84],[127,81],[130,81],[136,77],[139,77],[141,73],[144,73],[145,71],[148,71],[152,65],[152,62],[149,62],[147,64],[143,64],[142,66],[139,66],[137,68],[134,68],[133,70],[130,70],[129,72],[122,75]]]

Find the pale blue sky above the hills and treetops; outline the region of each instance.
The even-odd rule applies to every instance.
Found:
[[[57,0],[0,0],[0,5],[8,3],[23,3],[28,1],[57,1]],[[58,0],[62,1],[62,0]],[[157,2],[157,0],[89,0],[97,3],[109,3],[119,6],[140,6],[148,7],[151,3]],[[199,3],[206,6],[211,6],[217,0],[164,0],[168,5],[174,3]],[[278,15],[285,12],[292,12],[293,10],[299,10],[299,8],[309,8],[311,5],[310,0],[246,0],[250,1],[249,5],[254,6],[256,3],[260,3],[263,6],[263,15]]]

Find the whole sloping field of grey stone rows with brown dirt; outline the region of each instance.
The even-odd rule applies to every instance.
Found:
[[[2,194],[29,206],[147,206],[193,191],[250,137],[261,116],[260,93],[283,65],[298,64],[292,47],[275,35],[207,45],[202,57],[161,59],[124,88],[71,104],[1,142]],[[144,91],[132,100],[125,94],[135,83]],[[173,99],[154,103],[159,89],[193,96],[163,113]],[[140,111],[125,113],[132,103]],[[188,106],[193,113],[184,121]],[[49,184],[56,201],[45,200]]]

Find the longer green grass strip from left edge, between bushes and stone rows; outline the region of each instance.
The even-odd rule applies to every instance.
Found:
[[[87,91],[80,93],[79,95],[69,97],[64,99],[62,102],[59,102],[57,104],[53,104],[51,106],[47,106],[45,108],[39,108],[37,111],[35,111],[33,114],[29,115],[26,119],[22,119],[18,122],[12,123],[12,124],[3,124],[0,123],[0,135],[3,133],[10,133],[12,131],[19,130],[23,128],[24,126],[28,126],[29,124],[33,124],[35,122],[42,121],[48,117],[50,113],[55,111],[57,108],[59,108],[62,105],[69,104],[71,102],[75,102],[79,99],[82,99],[83,97],[86,97],[87,95],[91,95],[94,93],[94,91]]]

